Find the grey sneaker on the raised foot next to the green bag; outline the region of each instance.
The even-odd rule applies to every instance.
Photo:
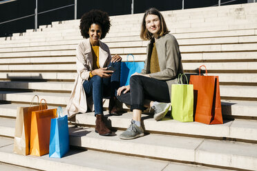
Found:
[[[166,113],[169,111],[170,106],[171,103],[159,103],[157,101],[154,101],[151,108],[153,108],[155,112],[155,114],[153,115],[155,121],[159,121],[164,118]]]

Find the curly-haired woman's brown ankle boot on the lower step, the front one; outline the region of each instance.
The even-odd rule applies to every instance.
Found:
[[[109,135],[111,134],[111,130],[106,127],[106,123],[104,123],[104,115],[97,114],[95,120],[95,132],[99,135]]]

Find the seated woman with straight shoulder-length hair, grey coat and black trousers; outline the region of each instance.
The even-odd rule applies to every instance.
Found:
[[[183,73],[178,41],[169,34],[162,14],[155,8],[144,13],[140,37],[150,40],[144,69],[132,75],[129,86],[117,90],[117,98],[131,105],[133,111],[131,125],[120,139],[144,136],[141,114],[145,107],[155,110],[156,121],[165,116],[171,105],[171,84],[178,83],[178,74]]]

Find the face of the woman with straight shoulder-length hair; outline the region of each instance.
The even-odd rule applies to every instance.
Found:
[[[146,29],[153,34],[155,38],[159,37],[160,31],[160,19],[155,14],[149,14],[146,16]]]

